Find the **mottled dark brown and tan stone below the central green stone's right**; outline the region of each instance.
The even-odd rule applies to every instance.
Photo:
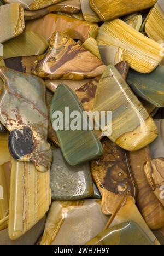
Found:
[[[91,173],[102,194],[102,212],[114,214],[128,196],[136,196],[136,188],[124,149],[108,140],[103,141],[103,155],[91,162]]]

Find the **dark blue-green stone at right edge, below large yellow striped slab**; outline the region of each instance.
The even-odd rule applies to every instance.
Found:
[[[139,97],[156,107],[164,107],[164,66],[158,66],[149,74],[130,69],[126,81]]]

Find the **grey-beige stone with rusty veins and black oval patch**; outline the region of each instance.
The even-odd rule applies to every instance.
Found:
[[[48,110],[43,80],[1,67],[0,88],[0,121],[10,131],[11,155],[33,161],[41,172],[49,170],[52,152],[46,141]]]

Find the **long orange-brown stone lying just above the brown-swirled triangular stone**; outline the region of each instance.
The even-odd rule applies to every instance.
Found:
[[[37,32],[46,40],[50,40],[52,34],[58,31],[85,42],[87,38],[97,36],[98,25],[68,16],[48,14],[40,19],[27,21],[26,31]]]

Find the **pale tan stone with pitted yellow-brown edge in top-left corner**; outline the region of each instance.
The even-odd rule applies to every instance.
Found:
[[[24,8],[17,3],[0,6],[0,24],[0,43],[19,36],[25,30]]]

